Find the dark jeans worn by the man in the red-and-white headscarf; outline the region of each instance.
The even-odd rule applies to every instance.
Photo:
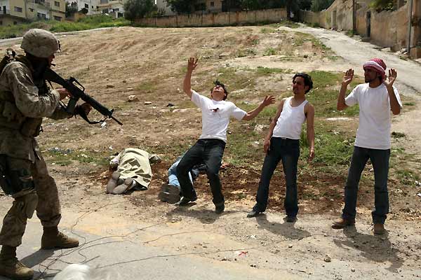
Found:
[[[370,148],[354,147],[351,166],[349,167],[347,184],[345,186],[345,207],[342,210],[342,218],[354,219],[356,215],[356,195],[358,184],[370,159],[374,169],[374,210],[371,212],[373,223],[386,221],[389,213],[389,194],[387,193],[387,173],[389,172],[389,150],[376,150]]]

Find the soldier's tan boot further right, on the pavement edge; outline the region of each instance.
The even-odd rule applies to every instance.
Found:
[[[77,246],[79,246],[79,240],[59,232],[57,227],[44,227],[44,233],[41,238],[41,249],[74,248]]]

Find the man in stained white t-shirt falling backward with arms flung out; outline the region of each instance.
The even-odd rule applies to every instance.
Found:
[[[192,90],[192,73],[197,66],[197,59],[189,58],[187,73],[185,76],[183,90],[202,113],[202,133],[199,140],[182,157],[177,167],[177,177],[180,182],[182,198],[178,205],[187,205],[194,202],[197,197],[192,181],[189,179],[189,171],[198,163],[206,165],[206,175],[210,183],[210,190],[213,195],[215,212],[221,214],[225,209],[224,195],[218,175],[222,162],[222,155],[227,142],[227,127],[229,118],[237,120],[252,120],[269,104],[275,102],[273,96],[267,96],[263,102],[250,112],[243,111],[232,102],[227,102],[228,92],[225,85],[215,83],[215,87],[210,91],[210,99]]]

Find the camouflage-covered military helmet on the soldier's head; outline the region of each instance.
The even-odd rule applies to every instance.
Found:
[[[47,58],[60,52],[60,43],[50,31],[34,28],[23,35],[20,48],[35,57]]]

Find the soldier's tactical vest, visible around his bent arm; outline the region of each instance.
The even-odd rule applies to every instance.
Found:
[[[0,73],[3,73],[4,68],[10,62],[20,62],[27,66],[31,73],[34,73],[31,62],[23,56],[18,55],[13,59],[4,59],[0,62]],[[34,84],[38,88],[39,95],[48,93],[49,88],[45,80],[34,80]],[[28,118],[23,116],[15,103],[15,97],[12,92],[5,92],[0,90],[0,127],[7,127],[12,130],[19,130],[20,134],[26,137],[36,137],[41,131],[42,118]]]

